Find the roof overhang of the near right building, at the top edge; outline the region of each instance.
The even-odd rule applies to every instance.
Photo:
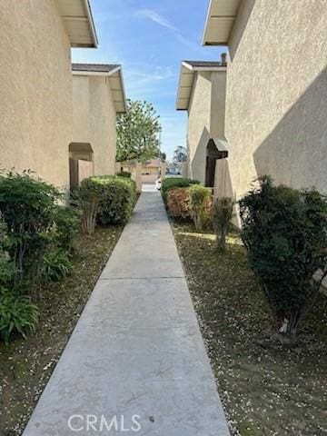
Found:
[[[203,45],[228,45],[242,0],[210,0]]]

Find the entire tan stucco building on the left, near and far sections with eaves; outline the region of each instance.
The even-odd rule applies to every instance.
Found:
[[[0,6],[1,167],[31,169],[64,189],[114,173],[121,65],[71,62],[72,47],[98,44],[88,0]]]

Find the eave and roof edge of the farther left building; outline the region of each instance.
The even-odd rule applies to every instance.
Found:
[[[109,77],[109,85],[114,98],[117,114],[126,112],[126,95],[122,65],[119,64],[72,64],[74,75],[104,75]]]

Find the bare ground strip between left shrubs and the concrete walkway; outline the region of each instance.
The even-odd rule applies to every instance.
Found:
[[[92,237],[81,236],[72,275],[41,292],[35,335],[0,343],[0,436],[22,434],[122,230],[101,228]]]

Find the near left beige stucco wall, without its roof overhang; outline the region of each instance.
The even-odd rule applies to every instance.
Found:
[[[54,0],[0,0],[0,163],[68,184],[70,43]]]

